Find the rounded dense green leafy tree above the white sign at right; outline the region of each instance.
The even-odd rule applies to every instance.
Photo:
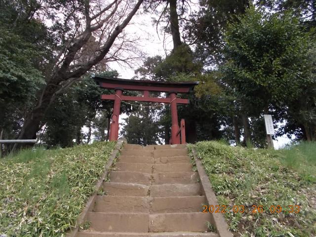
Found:
[[[268,14],[254,7],[238,20],[225,35],[229,60],[223,72],[247,104],[248,116],[293,108],[302,94],[314,98],[305,100],[303,108],[313,107],[315,97],[306,93],[315,88],[315,60],[308,56],[315,44],[299,20],[291,12]],[[302,126],[313,127],[308,121]]]

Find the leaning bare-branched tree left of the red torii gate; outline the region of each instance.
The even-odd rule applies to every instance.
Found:
[[[46,84],[37,92],[37,101],[25,116],[19,139],[35,138],[56,95],[63,93],[88,70],[101,61],[122,60],[120,52],[127,39],[124,34],[118,39],[118,35],[142,2],[35,1],[27,20],[37,18],[43,24],[50,22],[51,26],[46,26],[48,34],[59,41],[51,49],[54,55],[51,70],[45,72]]]

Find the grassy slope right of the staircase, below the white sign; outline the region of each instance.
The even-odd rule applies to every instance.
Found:
[[[235,236],[316,236],[315,143],[281,151],[219,142],[195,148],[219,203],[228,206],[225,218]],[[244,205],[245,212],[234,213],[234,205]],[[263,213],[252,213],[252,205],[263,205]],[[272,214],[271,205],[283,209]],[[300,212],[288,213],[288,205],[300,205]]]

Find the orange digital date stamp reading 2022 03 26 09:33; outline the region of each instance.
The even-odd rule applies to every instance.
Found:
[[[246,211],[248,210],[248,211]],[[203,205],[203,213],[299,213],[301,210],[300,205],[270,205],[264,207],[263,205],[252,205],[251,208],[245,208],[244,205],[234,205],[233,208],[226,205]]]

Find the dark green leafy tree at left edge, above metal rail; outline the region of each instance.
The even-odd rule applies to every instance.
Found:
[[[51,39],[43,24],[30,18],[33,4],[0,1],[0,8],[0,132],[12,139],[45,84],[42,72],[50,62]]]

